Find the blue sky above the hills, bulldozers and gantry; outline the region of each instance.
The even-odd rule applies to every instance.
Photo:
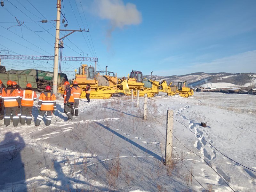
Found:
[[[31,21],[55,20],[57,1],[19,2],[5,0],[4,8],[0,7],[0,49],[11,50],[12,55],[53,55],[55,22]],[[90,33],[76,32],[64,39],[63,54],[80,56],[86,52],[90,57],[97,56],[101,67],[98,69],[108,65],[108,70],[117,72],[119,77],[127,76],[132,69],[145,75],[154,71],[154,75],[162,76],[193,72],[256,73],[254,0],[63,0],[62,4],[67,29],[90,29]],[[20,27],[11,27],[17,23],[3,23],[16,22],[15,17],[25,23]],[[63,25],[61,28],[65,29]],[[2,60],[8,69],[51,71],[52,63]],[[73,71],[80,64],[66,61],[62,66],[63,70]],[[73,73],[68,75],[72,78]]]

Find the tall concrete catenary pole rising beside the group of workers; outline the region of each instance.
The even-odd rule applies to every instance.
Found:
[[[57,0],[57,20],[56,35],[54,45],[54,66],[53,66],[53,93],[58,91],[58,61],[59,61],[59,41],[60,41],[60,9],[61,0]]]

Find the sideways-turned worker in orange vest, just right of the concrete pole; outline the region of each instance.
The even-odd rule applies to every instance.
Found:
[[[72,88],[68,81],[65,81],[64,85],[66,85],[66,89],[64,92],[64,113],[67,114],[68,120],[73,119],[72,108],[74,106],[74,96]]]

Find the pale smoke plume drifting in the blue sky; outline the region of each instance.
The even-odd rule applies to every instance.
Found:
[[[101,19],[109,20],[110,27],[107,31],[107,38],[111,38],[116,28],[123,28],[128,25],[138,25],[142,21],[141,13],[135,4],[124,4],[122,0],[94,0],[96,14]]]

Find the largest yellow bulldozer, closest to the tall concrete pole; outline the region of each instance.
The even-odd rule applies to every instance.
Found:
[[[100,75],[99,73],[95,75],[94,66],[81,65],[76,77],[73,81],[76,81],[78,86],[82,89],[80,98],[85,98],[85,91],[87,84],[91,86],[91,99],[109,99],[113,93],[128,93],[130,92],[127,80],[120,81],[118,83],[116,74],[113,72],[108,72],[107,74]],[[112,76],[110,76],[112,75]],[[71,86],[73,84],[71,81]],[[64,94],[65,86],[61,85],[59,87],[59,92]]]

